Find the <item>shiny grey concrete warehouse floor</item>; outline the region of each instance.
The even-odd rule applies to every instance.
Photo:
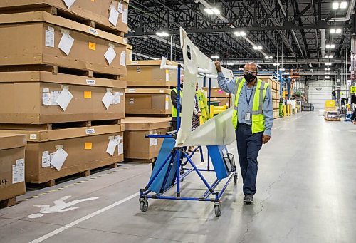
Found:
[[[355,242],[355,148],[352,123],[325,122],[316,112],[278,119],[259,156],[254,205],[242,203],[239,181],[229,185],[221,217],[211,202],[150,200],[142,213],[137,192],[151,165],[122,164],[75,180],[83,183],[28,192],[19,199],[69,185],[0,209],[0,242]],[[204,192],[197,176],[184,182],[183,194]],[[28,218],[40,210],[33,205],[53,206],[68,195],[66,202],[98,199]]]

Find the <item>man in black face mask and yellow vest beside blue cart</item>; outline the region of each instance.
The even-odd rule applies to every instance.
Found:
[[[257,157],[262,145],[271,138],[273,103],[271,88],[257,77],[255,63],[246,63],[244,77],[226,80],[219,62],[215,62],[222,91],[235,94],[233,125],[244,189],[244,202],[253,203],[256,193]]]

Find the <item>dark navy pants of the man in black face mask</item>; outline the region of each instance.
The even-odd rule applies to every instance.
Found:
[[[241,123],[237,125],[237,151],[244,183],[244,195],[256,193],[257,157],[262,148],[262,137],[263,133],[252,134],[251,125]]]

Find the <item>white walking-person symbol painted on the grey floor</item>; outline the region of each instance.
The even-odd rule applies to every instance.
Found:
[[[97,200],[99,198],[99,197],[90,197],[90,198],[85,198],[85,199],[80,199],[80,200],[74,200],[72,202],[64,202],[64,200],[67,200],[70,197],[72,197],[72,196],[61,197],[60,199],[53,202],[55,204],[54,206],[33,205],[34,207],[41,207],[40,213],[39,214],[31,214],[31,215],[28,215],[27,217],[30,219],[36,219],[38,217],[42,217],[44,214],[53,214],[56,212],[67,212],[70,210],[76,210],[79,207],[71,207],[71,206],[77,205],[80,202]]]

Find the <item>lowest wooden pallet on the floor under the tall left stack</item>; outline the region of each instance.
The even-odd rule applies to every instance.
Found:
[[[90,170],[84,170],[82,172],[75,173],[72,175],[66,175],[65,177],[60,177],[60,178],[57,178],[54,180],[49,180],[48,182],[44,182],[44,183],[40,183],[40,184],[26,182],[26,190],[38,190],[38,189],[41,189],[44,187],[53,187],[53,186],[57,185],[58,183],[61,183],[64,181],[78,179],[78,177],[88,177],[89,175],[93,175],[93,172],[95,172],[95,170],[98,170],[98,169],[109,170],[109,169],[117,168],[117,163],[119,163],[119,162],[115,162],[111,165],[105,165],[103,167],[93,168]]]

